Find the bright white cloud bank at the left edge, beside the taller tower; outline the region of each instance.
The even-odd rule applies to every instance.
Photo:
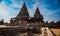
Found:
[[[13,14],[13,15],[11,15]],[[1,19],[4,19],[5,22],[10,22],[10,18],[11,17],[14,17],[15,15],[14,14],[17,14],[16,11],[9,7],[6,2],[1,2],[0,4],[0,20]]]

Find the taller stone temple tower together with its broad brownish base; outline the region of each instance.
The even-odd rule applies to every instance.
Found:
[[[11,18],[10,23],[13,25],[25,26],[27,24],[28,19],[29,19],[29,13],[26,4],[24,2],[19,14],[15,18]]]

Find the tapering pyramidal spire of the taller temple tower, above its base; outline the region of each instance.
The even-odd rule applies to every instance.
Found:
[[[28,18],[29,17],[29,13],[28,13],[28,10],[27,10],[27,7],[26,7],[26,4],[25,2],[23,3],[23,6],[19,12],[19,14],[17,15],[18,18]]]

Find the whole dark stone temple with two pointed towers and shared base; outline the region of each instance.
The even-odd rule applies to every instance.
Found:
[[[18,26],[41,25],[43,22],[43,16],[40,13],[39,8],[36,8],[34,17],[30,17],[25,3],[23,4],[19,14],[10,20],[12,25]]]

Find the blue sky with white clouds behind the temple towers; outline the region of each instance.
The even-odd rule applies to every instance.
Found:
[[[31,17],[38,7],[44,21],[60,20],[60,0],[0,0],[0,20],[10,22],[11,18],[17,16],[24,2]]]

